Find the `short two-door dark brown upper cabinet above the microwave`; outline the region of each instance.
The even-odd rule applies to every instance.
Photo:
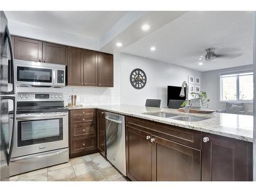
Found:
[[[67,46],[14,36],[14,58],[67,65]]]

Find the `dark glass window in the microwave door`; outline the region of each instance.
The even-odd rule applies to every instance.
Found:
[[[17,81],[52,82],[52,70],[18,66]]]

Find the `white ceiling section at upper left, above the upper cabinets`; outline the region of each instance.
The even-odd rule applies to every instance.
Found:
[[[5,11],[8,19],[61,32],[100,38],[127,11]]]

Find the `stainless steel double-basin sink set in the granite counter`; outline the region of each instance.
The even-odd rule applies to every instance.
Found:
[[[202,121],[202,120],[207,119],[207,118],[203,118],[203,117],[193,117],[193,116],[188,116],[188,115],[177,115],[177,114],[163,113],[163,112],[147,113],[146,115],[152,115],[152,116],[156,116],[156,117],[163,117],[163,118],[175,119],[175,120],[179,120],[179,121],[188,121],[188,122]]]

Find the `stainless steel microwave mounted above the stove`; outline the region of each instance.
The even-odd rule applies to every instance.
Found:
[[[66,66],[45,62],[14,60],[15,84],[17,87],[66,86]]]

